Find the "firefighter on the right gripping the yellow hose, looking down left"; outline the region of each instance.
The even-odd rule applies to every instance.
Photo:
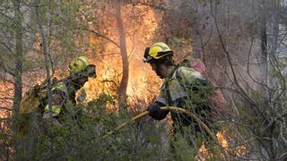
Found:
[[[171,141],[172,150],[183,150],[174,148],[178,138],[181,137],[194,149],[193,152],[196,155],[203,141],[200,138],[208,139],[206,132],[189,115],[164,111],[161,110],[161,106],[184,108],[197,114],[204,123],[209,124],[210,108],[207,100],[211,91],[208,88],[209,83],[200,72],[188,66],[174,64],[172,56],[173,51],[163,42],[157,42],[152,47],[145,48],[143,62],[151,64],[152,70],[164,79],[159,96],[147,110],[155,120],[162,120],[170,113],[174,134]]]

